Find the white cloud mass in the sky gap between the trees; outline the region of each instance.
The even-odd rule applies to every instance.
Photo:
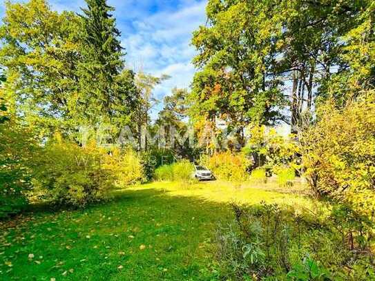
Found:
[[[122,44],[128,53],[128,66],[152,75],[170,75],[171,79],[155,89],[162,99],[171,89],[188,88],[194,68],[190,46],[193,30],[204,24],[205,1],[184,1],[180,10],[162,11],[133,23],[135,34],[126,36]]]

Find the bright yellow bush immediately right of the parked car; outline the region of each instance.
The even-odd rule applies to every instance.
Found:
[[[242,153],[216,153],[211,157],[203,157],[202,165],[209,168],[220,180],[242,182],[249,178],[247,172],[252,162]]]

